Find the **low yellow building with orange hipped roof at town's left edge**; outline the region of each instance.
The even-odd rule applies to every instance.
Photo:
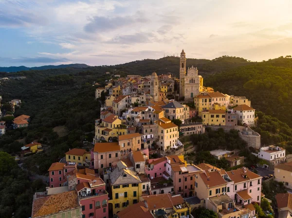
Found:
[[[74,162],[79,166],[91,166],[91,153],[85,149],[71,149],[65,153],[66,162]]]

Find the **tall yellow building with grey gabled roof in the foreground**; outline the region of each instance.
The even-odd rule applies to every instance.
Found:
[[[142,196],[142,181],[139,175],[129,169],[123,161],[110,173],[111,197],[113,214],[139,202]]]

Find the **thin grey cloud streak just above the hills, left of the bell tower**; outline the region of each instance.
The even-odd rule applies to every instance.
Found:
[[[135,44],[135,43],[148,43],[155,40],[155,35],[152,33],[135,33],[130,35],[118,35],[107,43],[114,44]]]

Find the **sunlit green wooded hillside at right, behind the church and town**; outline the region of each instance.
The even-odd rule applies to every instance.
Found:
[[[224,70],[204,78],[223,93],[246,96],[256,110],[292,127],[292,59],[276,58],[252,66]]]

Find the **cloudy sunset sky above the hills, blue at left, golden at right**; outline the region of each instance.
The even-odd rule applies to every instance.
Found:
[[[0,0],[0,67],[292,55],[291,0]]]

